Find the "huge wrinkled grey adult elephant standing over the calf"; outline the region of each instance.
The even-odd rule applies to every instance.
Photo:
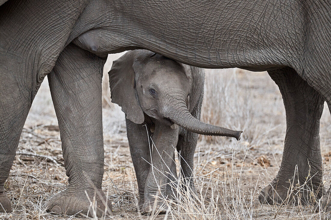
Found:
[[[319,119],[331,111],[331,3],[313,0],[9,0],[0,6],[0,202],[31,102],[47,74],[59,119],[67,190],[48,210],[104,205],[101,74],[109,53],[144,48],[189,65],[267,70],[286,109],[280,170],[260,194],[285,198],[300,183],[321,197]],[[278,186],[278,187],[277,187]],[[281,187],[285,186],[285,187]]]

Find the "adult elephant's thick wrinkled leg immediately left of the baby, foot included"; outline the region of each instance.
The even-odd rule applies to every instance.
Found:
[[[93,216],[94,211],[97,216],[111,214],[111,203],[101,190],[104,173],[101,105],[104,63],[100,57],[70,44],[48,75],[69,185],[47,202],[47,211],[66,215]],[[91,207],[89,200],[96,204],[92,203]]]

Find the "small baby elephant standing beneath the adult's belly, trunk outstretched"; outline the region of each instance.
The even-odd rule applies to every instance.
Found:
[[[141,213],[162,213],[163,203],[155,201],[155,195],[176,198],[171,187],[177,178],[174,149],[180,155],[180,171],[194,190],[193,156],[198,134],[238,140],[242,131],[199,121],[204,93],[201,68],[147,50],[134,50],[113,62],[109,79],[112,102],[121,106],[126,116],[138,180],[138,208]]]

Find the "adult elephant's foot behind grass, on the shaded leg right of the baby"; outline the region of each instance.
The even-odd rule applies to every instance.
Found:
[[[291,187],[289,182],[274,179],[262,189],[259,201],[263,204],[281,204],[282,202],[299,204],[299,201],[305,204],[311,201],[309,188],[307,185],[299,187],[298,184]]]

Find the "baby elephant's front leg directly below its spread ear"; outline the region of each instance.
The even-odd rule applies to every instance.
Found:
[[[135,124],[128,119],[126,119],[126,130],[132,163],[138,181],[138,209],[142,210],[144,204],[145,183],[151,164],[151,148],[148,141],[151,132],[149,128],[146,129],[146,126]]]

